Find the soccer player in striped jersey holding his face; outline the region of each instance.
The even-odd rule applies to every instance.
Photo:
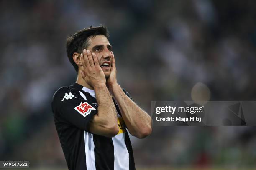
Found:
[[[108,37],[98,26],[67,38],[77,81],[55,92],[52,111],[69,170],[135,170],[128,131],[151,133],[151,117],[118,85]]]

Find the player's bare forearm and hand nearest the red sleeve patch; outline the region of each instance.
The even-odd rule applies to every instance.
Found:
[[[119,131],[117,114],[106,86],[104,72],[100,68],[97,56],[94,53],[84,50],[80,56],[84,67],[84,71],[81,71],[82,78],[94,88],[98,103],[98,112],[90,121],[89,130],[97,135],[113,137]]]

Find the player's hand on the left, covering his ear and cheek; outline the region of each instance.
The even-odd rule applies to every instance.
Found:
[[[105,74],[100,68],[96,54],[84,49],[83,53],[80,54],[80,57],[84,67],[84,70],[81,70],[80,72],[85,82],[92,87],[100,84],[105,85]]]

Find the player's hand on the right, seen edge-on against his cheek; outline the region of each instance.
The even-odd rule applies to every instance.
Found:
[[[114,86],[118,85],[117,80],[116,80],[116,67],[115,67],[115,57],[113,52],[111,51],[112,54],[112,61],[111,61],[111,68],[110,68],[110,76],[107,79],[106,85],[108,87],[108,90],[110,91],[111,94],[113,94],[113,88]]]

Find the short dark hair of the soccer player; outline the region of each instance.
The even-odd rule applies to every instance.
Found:
[[[74,52],[82,53],[83,49],[90,45],[90,37],[95,37],[96,35],[104,35],[105,37],[109,38],[108,29],[103,25],[98,27],[90,26],[67,37],[67,56],[69,58],[69,62],[74,66],[76,72],[78,72],[78,66],[73,60]]]

